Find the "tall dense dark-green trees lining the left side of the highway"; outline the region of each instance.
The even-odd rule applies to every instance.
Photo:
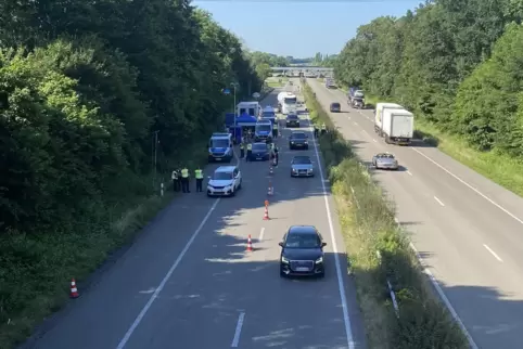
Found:
[[[263,83],[239,39],[189,0],[3,0],[0,23],[2,230],[58,227],[144,191],[156,135],[176,159],[222,125],[224,88]]]

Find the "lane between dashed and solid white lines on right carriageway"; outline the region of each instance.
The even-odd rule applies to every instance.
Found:
[[[355,109],[350,111],[357,112]],[[350,115],[353,119],[358,119],[357,114],[350,113]],[[374,131],[373,122],[362,121],[356,125],[368,134],[372,134]],[[412,153],[410,147],[386,144],[378,135],[372,138],[373,142],[380,144],[380,151],[388,151],[396,154],[401,163],[408,165],[409,173],[416,173],[416,176],[422,178],[426,186],[434,191],[434,195],[443,205],[452,206],[459,211],[461,217],[468,220],[470,230],[475,232],[474,240],[490,246],[490,249],[497,251],[494,255],[502,255],[503,257],[500,257],[500,259],[509,262],[510,268],[514,269],[511,273],[522,273],[523,244],[521,243],[522,227],[519,221],[494,207],[492,203],[477,195],[477,193],[461,186],[454,179],[442,180],[442,172],[434,170],[434,165],[429,159]],[[488,212],[488,215],[485,215],[485,212]],[[496,232],[496,234],[493,234],[493,232]],[[523,286],[523,279],[518,277],[516,280],[516,286]],[[523,293],[521,295],[523,296]]]

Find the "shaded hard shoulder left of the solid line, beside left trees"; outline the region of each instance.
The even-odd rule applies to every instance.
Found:
[[[275,92],[267,98],[273,100]],[[209,164],[204,173],[221,165]],[[194,181],[191,192],[176,197],[129,248],[115,253],[91,276],[89,289],[80,282],[81,297],[44,321],[21,349],[115,348],[215,203],[195,193]]]

